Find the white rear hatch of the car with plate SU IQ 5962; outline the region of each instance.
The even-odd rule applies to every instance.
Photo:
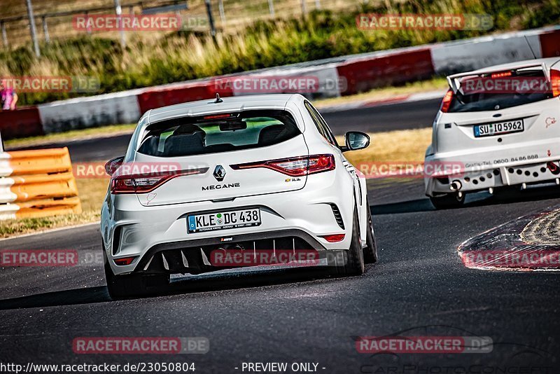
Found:
[[[560,71],[533,64],[449,77],[437,115],[437,153],[504,147],[559,137]]]

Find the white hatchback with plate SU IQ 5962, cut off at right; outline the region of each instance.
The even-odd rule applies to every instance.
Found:
[[[528,60],[454,74],[433,123],[425,165],[458,170],[424,179],[440,208],[465,193],[560,184],[560,59]]]

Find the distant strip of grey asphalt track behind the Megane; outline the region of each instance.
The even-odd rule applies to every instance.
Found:
[[[430,127],[440,102],[440,99],[402,102],[329,112],[324,113],[323,116],[336,135],[342,135],[349,130],[363,132],[407,130]],[[125,134],[102,139],[43,144],[26,149],[67,146],[73,162],[101,161],[124,155],[129,140],[130,134]],[[6,148],[7,151],[18,149]]]

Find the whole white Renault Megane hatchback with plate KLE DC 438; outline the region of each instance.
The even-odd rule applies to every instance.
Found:
[[[365,177],[343,152],[369,142],[348,132],[339,146],[302,95],[216,97],[148,111],[126,155],[106,165],[109,293],[132,296],[171,274],[228,268],[213,261],[216,253],[252,260],[268,251],[270,265],[279,265],[272,259],[280,252],[293,253],[283,265],[314,251],[314,265],[361,274],[377,248]]]

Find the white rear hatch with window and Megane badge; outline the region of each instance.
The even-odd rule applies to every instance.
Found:
[[[185,174],[136,191],[144,206],[295,191],[307,180],[308,148],[287,111],[174,118],[147,130],[134,163],[167,164]]]

